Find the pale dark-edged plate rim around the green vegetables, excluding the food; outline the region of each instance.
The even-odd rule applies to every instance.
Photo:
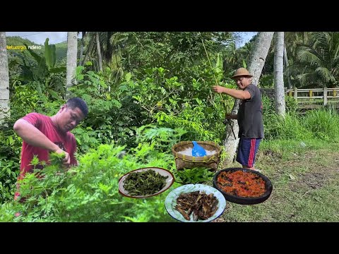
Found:
[[[153,170],[157,173],[159,173],[160,175],[162,176],[168,176],[167,179],[166,179],[166,185],[164,188],[162,188],[160,191],[158,191],[157,193],[154,193],[152,195],[138,195],[138,196],[132,196],[132,195],[129,195],[129,192],[126,191],[124,189],[124,181],[126,179],[127,176],[129,176],[129,174],[131,173],[137,173],[137,172],[142,172],[142,171],[148,171],[148,170]],[[128,198],[148,198],[148,197],[153,197],[155,195],[159,195],[160,193],[163,193],[164,191],[166,191],[169,187],[172,186],[172,184],[174,183],[174,176],[171,172],[169,172],[168,170],[166,169],[161,169],[161,168],[157,168],[157,167],[145,167],[145,168],[142,168],[142,169],[136,169],[136,170],[133,170],[127,174],[124,174],[124,176],[121,176],[121,178],[119,179],[119,193],[121,195],[124,195],[125,197],[128,197]]]

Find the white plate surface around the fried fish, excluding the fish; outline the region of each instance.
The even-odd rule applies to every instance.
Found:
[[[215,211],[215,214],[213,214],[212,217],[209,217],[208,219],[198,219],[198,221],[194,221],[193,219],[193,212],[191,213],[191,219],[188,221],[187,219],[182,216],[180,212],[175,210],[175,206],[177,205],[177,198],[182,193],[190,193],[193,191],[204,191],[207,195],[210,193],[213,193],[215,198],[217,198],[218,202],[218,209]],[[165,207],[169,215],[171,215],[174,219],[179,220],[180,222],[210,222],[213,221],[213,219],[217,219],[222,212],[224,212],[226,207],[226,200],[225,197],[218,191],[216,188],[213,188],[211,186],[206,186],[205,184],[186,184],[184,186],[180,186],[178,188],[175,188],[173,191],[171,191],[165,200]]]

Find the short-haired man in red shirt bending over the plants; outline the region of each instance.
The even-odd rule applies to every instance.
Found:
[[[76,138],[70,133],[73,128],[87,116],[88,107],[83,99],[73,97],[54,116],[45,116],[39,113],[30,113],[14,123],[13,129],[23,139],[21,150],[20,174],[18,180],[23,179],[26,172],[32,172],[30,165],[34,155],[40,162],[49,162],[49,152],[64,153],[65,167],[77,165],[74,157],[76,152]],[[42,168],[37,165],[35,168]],[[16,200],[20,194],[14,196]]]

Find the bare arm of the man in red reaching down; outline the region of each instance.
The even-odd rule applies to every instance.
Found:
[[[48,150],[49,152],[64,152],[57,144],[54,144],[51,140],[49,140],[49,138],[46,137],[46,135],[44,135],[44,133],[42,133],[28,121],[18,119],[16,123],[14,123],[13,129],[29,145],[41,147],[45,150]],[[64,164],[69,164],[69,153],[64,153],[66,154],[64,158]]]

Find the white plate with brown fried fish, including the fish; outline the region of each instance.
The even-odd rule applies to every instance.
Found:
[[[205,184],[185,184],[171,191],[165,200],[169,215],[180,222],[211,222],[226,207],[225,197]]]

